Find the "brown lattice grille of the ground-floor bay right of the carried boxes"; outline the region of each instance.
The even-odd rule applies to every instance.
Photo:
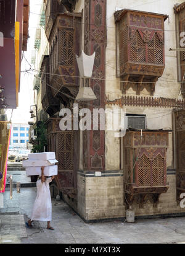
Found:
[[[73,170],[73,133],[57,133],[57,159],[59,170]]]

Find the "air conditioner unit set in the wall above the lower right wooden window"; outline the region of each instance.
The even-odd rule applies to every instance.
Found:
[[[145,115],[126,115],[125,117],[126,129],[146,129]]]

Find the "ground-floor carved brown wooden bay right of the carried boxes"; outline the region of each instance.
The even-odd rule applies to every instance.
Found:
[[[61,131],[60,118],[47,120],[48,150],[55,152],[58,163],[57,187],[63,193],[76,197],[77,171],[79,162],[78,131]]]

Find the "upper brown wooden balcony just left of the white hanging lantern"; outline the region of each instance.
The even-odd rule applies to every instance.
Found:
[[[79,72],[75,55],[80,55],[81,14],[59,14],[49,43],[52,94],[65,105],[68,99],[64,94],[71,97],[78,94]]]

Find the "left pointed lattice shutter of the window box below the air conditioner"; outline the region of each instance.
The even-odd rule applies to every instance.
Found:
[[[145,154],[138,161],[138,183],[141,186],[150,185],[150,159]]]

